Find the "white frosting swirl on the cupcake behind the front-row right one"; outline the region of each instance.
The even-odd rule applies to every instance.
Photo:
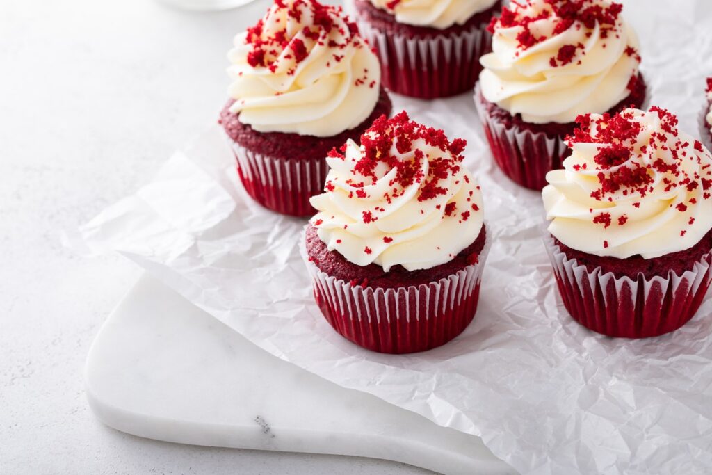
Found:
[[[612,109],[639,74],[638,40],[621,10],[608,0],[511,2],[490,25],[484,98],[537,124]]]

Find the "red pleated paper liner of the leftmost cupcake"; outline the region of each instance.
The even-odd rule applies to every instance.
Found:
[[[323,192],[328,165],[323,158],[284,160],[246,149],[229,139],[245,191],[263,207],[290,216],[315,214],[310,197]]]

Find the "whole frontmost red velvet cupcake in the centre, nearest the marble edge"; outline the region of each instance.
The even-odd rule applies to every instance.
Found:
[[[329,154],[303,255],[319,308],[353,343],[414,353],[473,319],[489,238],[465,145],[400,113]]]

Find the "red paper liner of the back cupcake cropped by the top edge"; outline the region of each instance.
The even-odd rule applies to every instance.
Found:
[[[359,31],[375,46],[383,85],[412,98],[445,98],[471,90],[482,71],[480,56],[491,49],[486,24],[459,33],[411,38],[360,21]]]

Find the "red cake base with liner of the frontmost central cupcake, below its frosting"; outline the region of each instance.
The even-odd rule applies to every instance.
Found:
[[[376,264],[355,266],[328,251],[309,225],[304,257],[316,303],[337,333],[379,353],[416,353],[444,345],[471,323],[489,249],[486,239],[483,227],[449,263],[415,272],[396,266],[385,273]]]

